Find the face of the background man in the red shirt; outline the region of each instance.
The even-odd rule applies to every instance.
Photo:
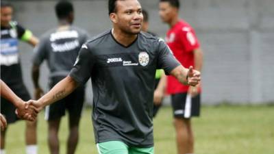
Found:
[[[164,23],[170,23],[175,14],[177,14],[177,9],[172,7],[169,2],[159,3],[159,15]]]

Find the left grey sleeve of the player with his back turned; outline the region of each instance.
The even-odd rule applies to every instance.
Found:
[[[34,57],[32,57],[32,63],[36,66],[40,66],[43,60],[47,58],[47,39],[41,38],[40,42],[34,48]]]

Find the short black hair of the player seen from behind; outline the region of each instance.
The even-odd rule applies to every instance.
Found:
[[[55,5],[55,13],[59,19],[69,16],[73,12],[73,4],[70,1],[61,0]]]

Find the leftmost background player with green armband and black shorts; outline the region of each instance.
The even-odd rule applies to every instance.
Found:
[[[1,1],[1,79],[18,97],[27,101],[29,92],[23,84],[21,63],[18,53],[18,42],[22,40],[35,46],[38,39],[32,32],[23,28],[16,21],[12,21],[13,8],[10,3]],[[1,113],[5,115],[8,124],[15,123],[18,118],[15,114],[16,107],[10,101],[1,97]],[[5,153],[5,132],[1,131],[1,154]],[[27,154],[36,154],[36,121],[27,121],[26,129]]]

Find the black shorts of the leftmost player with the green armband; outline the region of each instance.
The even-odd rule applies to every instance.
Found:
[[[10,89],[23,101],[29,101],[30,96],[29,92],[27,92],[27,88],[23,83],[21,84],[7,84]],[[7,99],[4,99],[1,97],[1,114],[3,114],[8,122],[15,123],[16,120],[19,120],[19,118],[15,114],[16,107]]]

